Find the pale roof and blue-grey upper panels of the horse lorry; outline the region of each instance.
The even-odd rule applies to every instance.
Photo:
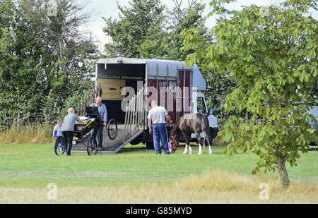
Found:
[[[206,90],[206,82],[201,75],[198,66],[185,66],[184,61],[168,61],[168,60],[157,60],[157,59],[129,59],[129,58],[111,58],[111,59],[100,59],[97,63],[112,64],[147,64],[148,75],[152,76],[171,76],[177,77],[177,73],[180,70],[193,71],[193,87],[197,87],[197,90]]]

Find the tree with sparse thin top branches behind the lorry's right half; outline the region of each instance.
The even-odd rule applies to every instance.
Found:
[[[184,61],[187,52],[180,52],[183,38],[180,35],[184,28],[196,28],[206,42],[212,41],[212,36],[205,26],[206,17],[203,16],[205,4],[197,0],[187,1],[188,5],[182,8],[182,0],[173,0],[174,8],[165,11],[164,26],[155,30],[141,44],[139,52],[147,59],[169,59]]]

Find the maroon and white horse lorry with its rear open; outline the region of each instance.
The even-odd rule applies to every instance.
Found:
[[[95,82],[96,86],[100,85],[102,89],[102,103],[107,107],[108,119],[115,119],[117,123],[126,126],[125,128],[128,126],[136,131],[131,134],[128,134],[129,129],[124,131],[122,145],[119,145],[118,149],[127,143],[143,143],[147,148],[153,148],[153,136],[148,131],[146,119],[152,99],[167,109],[174,123],[186,113],[206,114],[213,138],[218,133],[216,116],[213,115],[213,109],[206,107],[202,93],[206,90],[206,82],[196,65],[185,66],[182,61],[152,59],[100,59],[96,63]],[[139,103],[136,102],[133,107],[128,106],[132,99],[138,99],[136,95],[139,92]],[[135,111],[138,104],[142,104],[140,111]],[[127,115],[131,108],[134,113]],[[137,112],[139,128],[131,127],[129,125],[135,121],[132,116]],[[170,128],[167,126],[169,133]],[[204,133],[202,134],[203,138]],[[195,138],[194,134],[192,138]]]

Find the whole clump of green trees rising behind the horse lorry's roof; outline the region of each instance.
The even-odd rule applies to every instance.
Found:
[[[184,28],[198,28],[204,39],[211,41],[202,16],[205,5],[192,0],[187,8],[181,8],[182,1],[174,2],[171,10],[153,0],[132,0],[129,7],[118,5],[119,20],[104,18],[104,32],[112,37],[112,42],[105,44],[105,56],[184,61],[187,53],[179,51]]]

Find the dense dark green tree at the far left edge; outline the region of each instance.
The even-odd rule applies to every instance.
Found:
[[[37,110],[41,99],[39,77],[35,69],[38,47],[32,47],[33,35],[28,29],[19,31],[20,11],[13,1],[1,1],[0,114],[3,117]],[[23,20],[24,22],[25,20]],[[30,23],[30,22],[29,22]],[[21,38],[24,38],[22,40]],[[27,40],[27,37],[30,37]]]

